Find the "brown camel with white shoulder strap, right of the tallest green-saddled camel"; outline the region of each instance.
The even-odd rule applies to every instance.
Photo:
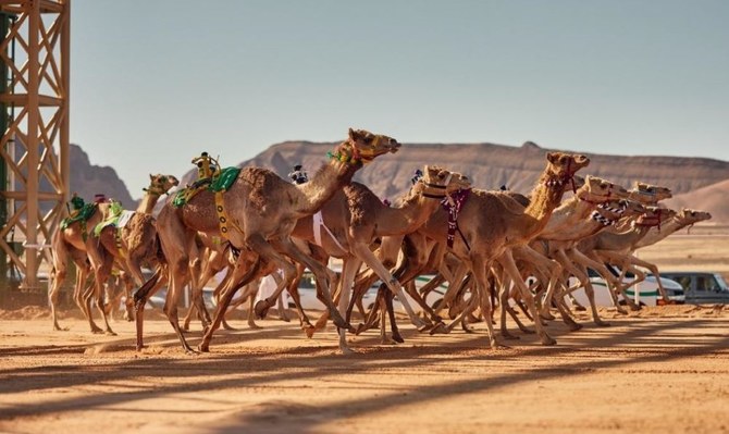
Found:
[[[305,239],[324,248],[328,255],[342,258],[343,269],[339,293],[339,313],[349,310],[349,299],[355,274],[362,263],[372,269],[396,294],[418,327],[421,320],[408,305],[403,288],[390,271],[370,250],[378,237],[404,235],[416,231],[440,207],[440,200],[450,194],[470,188],[468,178],[459,173],[438,166],[425,165],[423,177],[418,181],[399,204],[388,207],[369,188],[351,183],[336,193],[321,209],[322,221],[328,236],[317,236],[318,227],[312,218],[300,219],[292,236]],[[277,294],[271,296],[275,299]],[[306,314],[299,308],[299,315]],[[308,320],[305,320],[308,322]],[[346,331],[339,330],[339,349],[350,352],[346,344]]]

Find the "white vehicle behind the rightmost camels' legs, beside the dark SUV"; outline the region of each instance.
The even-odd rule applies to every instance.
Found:
[[[590,271],[590,282],[592,282],[592,288],[595,292],[595,305],[611,307],[613,298],[610,297],[607,283],[603,277],[592,270]],[[616,275],[618,275],[616,273]],[[623,282],[631,282],[634,278],[632,273],[627,273]],[[577,285],[579,281],[576,277],[569,278],[569,285]],[[683,293],[683,287],[676,281],[670,278],[660,277],[660,284],[664,289],[666,289],[666,295],[670,299],[671,303],[682,305],[685,302],[685,294]],[[629,297],[631,297],[637,305],[639,306],[660,306],[665,305],[660,293],[658,292],[658,282],[655,276],[646,275],[645,280],[637,285],[631,286],[626,290]],[[582,306],[590,306],[588,300],[588,295],[584,293],[584,288],[577,289],[572,293],[577,301]],[[622,295],[618,295],[618,301],[625,303],[622,300]]]

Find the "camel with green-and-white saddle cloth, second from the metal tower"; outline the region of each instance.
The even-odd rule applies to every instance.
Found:
[[[150,174],[149,179],[149,187],[144,189],[145,195],[136,211],[121,211],[95,228],[95,236],[99,243],[91,244],[87,253],[91,262],[101,264],[95,268],[94,273],[97,293],[100,290],[98,286],[107,282],[114,262],[137,286],[145,283],[141,274],[143,264],[155,266],[163,262],[160,259],[157,228],[151,214],[160,197],[177,186],[180,181],[173,175],[163,174]],[[120,222],[124,222],[122,227],[119,227]],[[133,320],[134,306],[131,289],[125,285],[126,315],[129,321]]]

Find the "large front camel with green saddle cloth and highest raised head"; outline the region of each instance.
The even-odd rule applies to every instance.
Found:
[[[244,168],[222,198],[219,196],[218,204],[215,195],[208,189],[200,191],[180,208],[168,201],[157,219],[158,234],[170,274],[164,312],[183,349],[194,352],[177,323],[177,299],[190,276],[199,275],[200,260],[194,243],[198,232],[223,236],[234,250],[242,252],[231,271],[228,287],[223,290],[215,317],[205,333],[199,350],[209,350],[212,334],[220,326],[235,294],[234,289],[255,277],[260,262],[283,270],[284,284],[294,280],[296,268],[284,256],[305,263],[313,272],[334,322],[337,326],[348,327],[332,301],[326,268],[296,248],[292,244],[291,233],[298,219],[316,213],[334,193],[349,183],[364,163],[379,156],[396,152],[399,146],[394,138],[350,128],[347,139],[329,152],[329,162],[306,184],[291,184],[267,169]],[[244,255],[243,250],[252,251],[258,259],[249,261],[249,255]],[[249,264],[252,265],[248,266]],[[191,280],[195,290],[197,282]],[[146,286],[148,285],[144,285],[135,295],[138,349],[143,346],[144,303],[150,292]],[[193,298],[197,309],[207,315],[201,298]]]

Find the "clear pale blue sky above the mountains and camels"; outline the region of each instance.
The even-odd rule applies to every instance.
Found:
[[[201,151],[235,165],[350,126],[729,160],[729,1],[71,5],[71,141],[134,198]]]

